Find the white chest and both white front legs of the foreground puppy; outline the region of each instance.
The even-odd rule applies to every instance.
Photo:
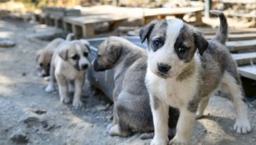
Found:
[[[201,65],[198,55],[195,55],[194,59],[189,63],[195,63],[195,67]],[[154,101],[150,99],[155,130],[155,136],[151,144],[167,142],[169,106],[177,107],[180,110],[180,118],[177,122],[177,134],[171,142],[189,142],[195,122],[195,113],[190,113],[186,107],[189,101],[192,100],[192,97],[197,93],[198,75],[199,69],[195,69],[195,73],[192,76],[180,82],[176,81],[177,76],[166,79],[160,78],[148,68],[146,73],[148,92],[150,96],[158,97],[161,102],[160,107],[155,110]]]

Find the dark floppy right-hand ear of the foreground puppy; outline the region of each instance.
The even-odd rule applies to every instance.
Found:
[[[195,46],[199,50],[199,54],[203,55],[205,50],[208,48],[207,39],[201,34],[201,32],[194,32]]]

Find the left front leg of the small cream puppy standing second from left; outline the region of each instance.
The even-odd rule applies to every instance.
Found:
[[[68,87],[67,80],[61,75],[56,75],[57,83],[59,86],[59,94],[61,102],[68,103],[70,102],[70,98],[68,97]]]

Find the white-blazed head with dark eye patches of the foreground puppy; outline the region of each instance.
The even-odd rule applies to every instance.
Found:
[[[140,31],[142,42],[148,42],[148,67],[161,78],[182,73],[195,51],[200,55],[208,47],[206,38],[182,20],[154,20]]]

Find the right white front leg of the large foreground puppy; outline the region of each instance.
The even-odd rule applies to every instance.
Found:
[[[177,132],[169,144],[188,144],[191,138],[191,132],[195,124],[195,113],[190,112],[187,107],[179,108],[179,112]]]

